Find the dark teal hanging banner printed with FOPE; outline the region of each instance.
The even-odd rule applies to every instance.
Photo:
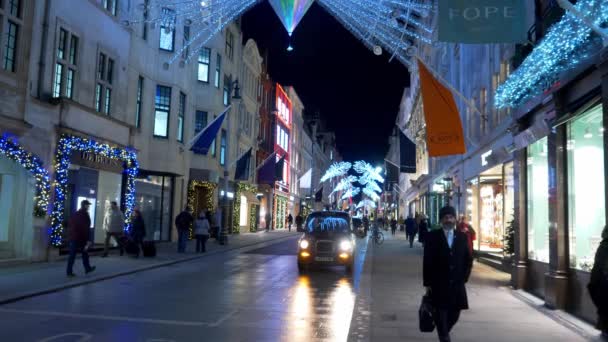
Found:
[[[465,44],[527,40],[530,0],[439,0],[439,41]]]

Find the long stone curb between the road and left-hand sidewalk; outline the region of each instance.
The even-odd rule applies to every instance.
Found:
[[[144,272],[144,271],[153,270],[153,269],[156,269],[156,268],[161,268],[161,267],[165,267],[165,266],[171,266],[171,265],[179,264],[179,263],[182,263],[182,262],[192,261],[192,260],[204,258],[204,257],[209,256],[209,255],[226,253],[226,252],[235,251],[235,250],[238,250],[238,249],[243,249],[243,248],[248,248],[248,247],[252,247],[252,246],[256,246],[256,245],[266,244],[268,242],[273,242],[273,241],[279,242],[280,240],[287,240],[287,239],[293,238],[295,236],[298,236],[298,234],[290,234],[288,236],[281,236],[281,237],[272,238],[272,239],[269,239],[269,240],[259,241],[259,242],[255,242],[255,243],[251,243],[251,244],[247,244],[247,245],[242,245],[242,246],[228,247],[226,249],[220,249],[220,250],[216,250],[216,251],[211,251],[211,252],[208,252],[208,253],[205,253],[205,254],[202,254],[202,255],[195,255],[195,256],[185,257],[185,258],[176,259],[176,260],[163,261],[163,262],[159,262],[159,263],[155,263],[155,264],[151,264],[151,265],[147,265],[147,266],[133,268],[133,269],[126,270],[126,271],[112,273],[112,274],[108,274],[108,275],[104,275],[104,276],[99,276],[99,277],[96,277],[96,278],[76,281],[74,283],[69,283],[69,284],[62,284],[62,285],[54,286],[54,287],[47,288],[47,289],[44,289],[44,290],[37,290],[37,291],[27,292],[27,293],[16,295],[16,296],[11,297],[11,298],[0,299],[0,305],[10,304],[10,303],[18,302],[18,301],[21,301],[21,300],[24,300],[24,299],[28,299],[28,298],[32,298],[32,297],[37,297],[37,296],[42,296],[42,295],[49,294],[49,293],[59,292],[59,291],[67,290],[67,289],[70,289],[70,288],[74,288],[74,287],[78,287],[78,286],[82,286],[82,285],[88,285],[88,284],[92,284],[92,283],[96,283],[96,282],[100,282],[100,281],[104,281],[104,280],[108,280],[108,279],[118,278],[118,277],[129,275],[129,274]]]

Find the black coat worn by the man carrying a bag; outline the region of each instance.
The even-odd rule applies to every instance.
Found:
[[[473,257],[466,235],[454,230],[451,249],[443,229],[428,232],[424,242],[424,286],[431,287],[433,304],[439,309],[468,309],[464,284],[469,280]]]

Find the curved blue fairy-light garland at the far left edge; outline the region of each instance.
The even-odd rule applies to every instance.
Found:
[[[34,215],[38,217],[46,216],[49,207],[51,182],[49,172],[44,168],[40,158],[27,152],[14,138],[7,134],[0,137],[0,154],[19,163],[34,176],[34,179],[36,179]]]

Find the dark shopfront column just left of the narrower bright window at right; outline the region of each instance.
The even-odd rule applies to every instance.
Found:
[[[525,149],[514,152],[514,185],[515,185],[515,253],[511,268],[511,285],[516,289],[526,288],[528,272],[528,223],[527,223],[527,154]]]

